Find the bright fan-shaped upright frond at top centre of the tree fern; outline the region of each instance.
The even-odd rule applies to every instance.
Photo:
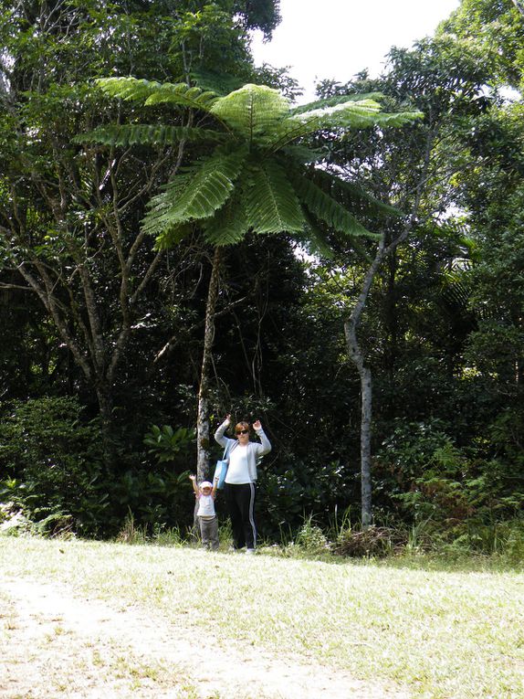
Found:
[[[263,143],[267,133],[288,114],[289,101],[266,85],[245,85],[218,98],[210,112],[251,143]]]

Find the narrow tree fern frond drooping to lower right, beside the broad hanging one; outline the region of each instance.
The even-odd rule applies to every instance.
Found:
[[[293,185],[301,200],[313,216],[343,233],[345,236],[365,236],[366,238],[380,238],[364,228],[350,212],[326,194],[320,186],[303,177],[293,178]]]

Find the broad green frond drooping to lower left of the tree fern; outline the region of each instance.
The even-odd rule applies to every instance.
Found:
[[[246,160],[246,151],[215,152],[197,166],[175,175],[162,194],[153,196],[142,222],[147,233],[159,235],[165,228],[211,217],[223,207],[235,187]]]

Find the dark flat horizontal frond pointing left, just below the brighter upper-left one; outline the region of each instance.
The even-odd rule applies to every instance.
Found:
[[[100,143],[102,145],[173,145],[181,141],[221,143],[223,133],[197,127],[166,126],[162,124],[108,124],[89,133],[76,136],[75,143]]]

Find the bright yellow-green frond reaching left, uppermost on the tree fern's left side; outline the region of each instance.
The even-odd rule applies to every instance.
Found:
[[[136,78],[100,78],[96,84],[110,97],[138,101],[144,105],[170,103],[209,111],[215,92],[191,88],[184,82],[156,82]]]

